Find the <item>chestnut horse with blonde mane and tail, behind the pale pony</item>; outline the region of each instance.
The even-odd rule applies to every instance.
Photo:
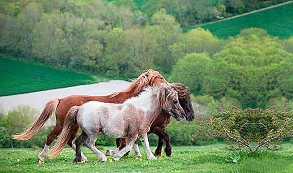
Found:
[[[88,95],[71,95],[64,98],[53,98],[46,105],[42,114],[39,118],[30,126],[27,130],[22,133],[12,135],[13,139],[18,140],[28,140],[34,136],[48,121],[51,115],[56,116],[56,126],[47,136],[47,140],[44,146],[43,151],[39,154],[39,163],[42,164],[44,158],[47,155],[48,149],[54,139],[60,134],[63,129],[63,124],[67,115],[67,112],[72,106],[80,106],[88,101],[101,101],[107,103],[123,103],[126,99],[137,96],[143,87],[153,86],[154,84],[164,83],[167,84],[167,81],[164,77],[157,71],[149,69],[147,72],[141,74],[137,79],[135,79],[128,88],[124,91],[115,92],[106,96],[88,96]],[[79,130],[78,124],[75,124],[75,128],[72,132],[72,135],[68,141],[68,145],[75,150],[74,139]],[[138,146],[136,146],[138,148]],[[82,153],[83,160],[87,158]]]

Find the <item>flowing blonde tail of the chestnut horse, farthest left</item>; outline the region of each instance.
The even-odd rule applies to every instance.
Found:
[[[39,118],[32,124],[28,125],[28,129],[26,129],[22,133],[12,134],[12,139],[17,140],[28,140],[29,138],[33,137],[41,128],[42,126],[49,120],[49,118],[54,114],[56,114],[56,109],[59,104],[58,98],[52,98],[46,105],[42,114]]]

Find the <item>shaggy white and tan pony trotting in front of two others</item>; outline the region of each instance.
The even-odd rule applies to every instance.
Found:
[[[86,135],[88,138],[85,145],[97,154],[99,161],[107,162],[106,156],[95,147],[100,132],[106,137],[127,137],[125,148],[107,151],[109,155],[113,155],[114,161],[119,161],[133,147],[136,138],[140,135],[143,137],[149,157],[152,153],[149,145],[145,145],[148,144],[146,133],[161,111],[165,110],[177,120],[182,120],[185,112],[179,104],[177,91],[172,87],[159,84],[146,87],[144,90],[137,97],[132,97],[122,104],[90,101],[82,106],[74,106],[68,112],[64,129],[50,151],[50,156],[54,158],[59,155],[74,130],[74,124],[78,123],[83,130],[81,135]],[[82,162],[80,152],[82,144],[83,142],[76,142],[75,162]]]

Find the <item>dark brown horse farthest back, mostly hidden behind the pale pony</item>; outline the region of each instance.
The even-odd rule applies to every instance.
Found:
[[[170,87],[173,87],[178,92],[179,103],[183,108],[186,114],[187,121],[193,121],[195,119],[194,110],[192,107],[192,101],[190,98],[189,88],[181,83],[172,83],[169,84]],[[171,121],[171,116],[166,111],[162,111],[158,118],[151,125],[150,131],[148,134],[154,133],[159,136],[158,146],[155,151],[155,156],[161,156],[162,147],[164,144],[164,140],[166,142],[165,153],[169,157],[172,153],[172,147],[170,143],[170,136],[165,132],[167,125]],[[120,150],[126,146],[126,138],[118,138],[116,139],[116,145]],[[139,152],[138,149],[135,151]],[[126,153],[127,155],[128,153]]]

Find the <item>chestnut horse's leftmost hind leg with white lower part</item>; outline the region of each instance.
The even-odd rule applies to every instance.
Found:
[[[47,136],[47,140],[46,140],[46,144],[44,146],[44,149],[42,150],[42,152],[38,155],[39,157],[39,163],[42,164],[42,162],[44,161],[45,157],[48,154],[48,150],[50,148],[51,143],[54,141],[54,139],[60,134],[61,130],[62,130],[63,126],[60,123],[59,120],[56,120],[56,126],[55,128],[50,132],[50,134],[48,134]]]

